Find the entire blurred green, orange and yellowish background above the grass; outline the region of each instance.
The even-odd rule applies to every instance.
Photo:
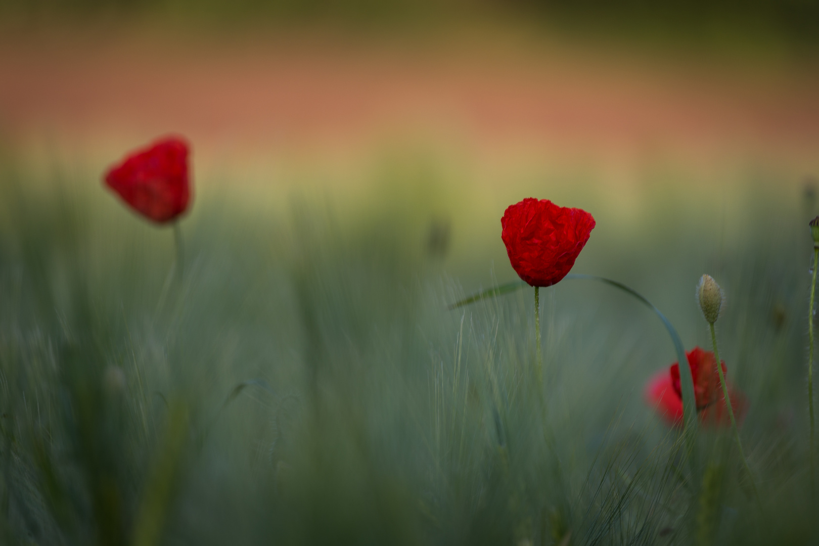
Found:
[[[475,199],[572,174],[631,216],[657,165],[815,173],[817,53],[813,0],[2,0],[0,138],[96,175],[182,133],[238,194],[409,156]]]

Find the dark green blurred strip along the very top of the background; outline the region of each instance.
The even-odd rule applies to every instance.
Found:
[[[147,20],[194,29],[315,23],[424,29],[502,20],[640,43],[819,47],[819,0],[0,0],[0,17],[24,26]]]

